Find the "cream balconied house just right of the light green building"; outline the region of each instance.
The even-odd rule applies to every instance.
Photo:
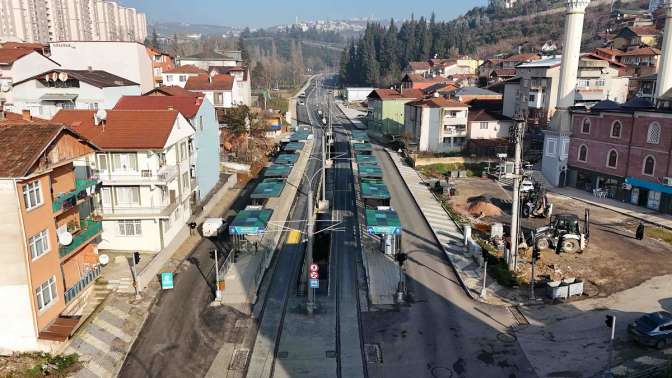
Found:
[[[459,152],[467,143],[469,107],[443,97],[404,105],[404,130],[417,151]]]

